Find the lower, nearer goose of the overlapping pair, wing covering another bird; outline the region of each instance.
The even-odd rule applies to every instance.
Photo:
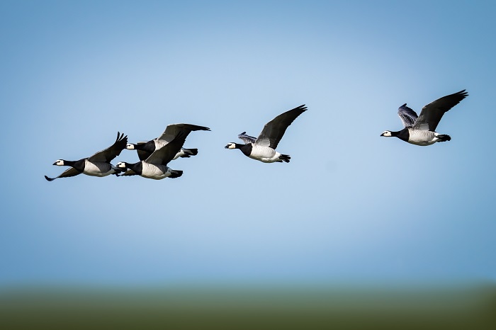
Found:
[[[167,137],[167,144],[163,147],[156,149],[150,157],[147,159],[138,161],[137,163],[130,164],[125,161],[120,161],[117,164],[119,169],[128,169],[123,176],[134,176],[139,175],[144,178],[152,178],[154,180],[161,180],[162,178],[179,178],[183,174],[183,171],[176,171],[167,166],[169,161],[176,157],[176,154],[180,151],[186,137],[192,130],[198,130],[196,125],[190,124],[174,124],[174,130],[169,130],[169,132],[174,132],[174,136]],[[174,126],[174,125],[169,125]],[[207,128],[207,127],[202,127]],[[167,131],[167,129],[166,129]],[[170,133],[172,134],[172,133]]]

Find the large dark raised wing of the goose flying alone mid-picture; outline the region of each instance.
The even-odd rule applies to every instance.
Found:
[[[284,135],[284,132],[286,132],[286,128],[293,123],[293,120],[295,120],[298,115],[301,115],[306,110],[307,107],[303,104],[302,106],[278,115],[276,118],[269,121],[269,123],[266,123],[264,129],[261,130],[259,137],[257,137],[256,143],[265,147],[276,149],[279,141],[281,141]]]

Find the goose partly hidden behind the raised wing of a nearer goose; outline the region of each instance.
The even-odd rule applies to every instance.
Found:
[[[210,128],[191,124],[172,124],[168,125],[159,137],[148,142],[137,142],[136,144],[128,143],[126,145],[126,149],[136,150],[137,156],[140,157],[141,161],[144,161],[150,157],[155,150],[164,147],[164,145],[174,140],[174,137],[176,137],[179,131],[189,133],[196,130],[210,130]],[[198,149],[181,148],[179,149],[179,152],[174,155],[174,159],[178,159],[179,157],[189,158],[191,156],[195,156],[196,154],[198,154]]]

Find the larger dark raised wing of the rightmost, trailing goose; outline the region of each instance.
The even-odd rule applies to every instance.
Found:
[[[415,125],[413,125],[413,128],[434,132],[444,113],[453,108],[453,106],[456,106],[467,96],[468,93],[463,89],[463,91],[438,98],[436,101],[427,104],[427,106],[424,106],[422,111],[420,111],[419,118],[415,122]]]

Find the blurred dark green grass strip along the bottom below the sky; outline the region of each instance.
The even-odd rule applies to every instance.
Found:
[[[0,329],[496,329],[496,286],[3,288]]]

